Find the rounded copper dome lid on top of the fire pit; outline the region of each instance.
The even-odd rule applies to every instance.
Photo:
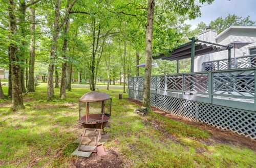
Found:
[[[103,100],[108,100],[111,99],[110,96],[106,93],[99,92],[99,91],[93,91],[84,94],[79,101],[82,102],[93,102],[93,101],[103,101]]]

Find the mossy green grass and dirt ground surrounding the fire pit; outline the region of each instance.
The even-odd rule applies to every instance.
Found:
[[[3,86],[7,94],[7,87]],[[113,99],[107,155],[71,155],[83,127],[78,99],[86,88],[73,88],[65,100],[46,102],[45,85],[26,94],[26,109],[10,112],[11,100],[0,100],[0,167],[255,167],[255,141],[196,122],[156,113],[142,117],[140,103],[122,89],[102,92]],[[58,97],[59,89],[55,89]]]

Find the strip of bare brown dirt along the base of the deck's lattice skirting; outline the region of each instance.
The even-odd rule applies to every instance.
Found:
[[[134,102],[134,103],[136,103],[140,106],[142,105],[142,103],[140,101],[137,101],[137,100],[134,100],[134,99],[127,99],[127,100],[132,101],[132,102]],[[155,107],[152,107],[152,110],[155,113],[161,114],[161,115],[163,115],[165,117],[168,117],[172,120],[182,122],[182,123],[185,123],[187,125],[196,126],[196,127],[201,128],[203,130],[210,131],[211,134],[212,134],[211,138],[208,138],[206,140],[198,140],[201,143],[204,143],[206,145],[214,145],[214,144],[220,143],[220,144],[227,144],[227,145],[231,145],[231,146],[239,147],[239,148],[247,147],[247,148],[252,149],[253,151],[256,151],[256,146],[255,146],[256,141],[252,140],[248,137],[245,137],[243,135],[239,135],[237,133],[234,133],[234,132],[231,132],[231,131],[228,131],[228,130],[221,130],[221,129],[218,129],[218,128],[215,128],[215,127],[211,127],[211,126],[209,126],[205,123],[189,121],[187,119],[181,118],[179,116],[172,115],[170,113],[167,113],[167,112],[165,112],[163,110],[160,110],[158,108],[155,108]]]

